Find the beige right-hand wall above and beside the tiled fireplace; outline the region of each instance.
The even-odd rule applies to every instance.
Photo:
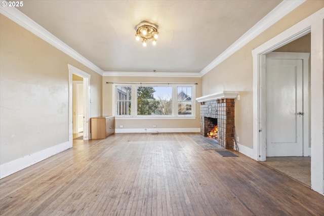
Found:
[[[324,1],[306,1],[201,78],[202,96],[223,90],[239,92],[240,101],[235,101],[239,144],[253,148],[252,50],[323,7]]]

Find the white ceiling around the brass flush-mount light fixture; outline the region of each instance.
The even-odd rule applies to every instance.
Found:
[[[22,13],[103,71],[199,73],[281,0],[24,1]],[[143,47],[136,26],[158,26]]]

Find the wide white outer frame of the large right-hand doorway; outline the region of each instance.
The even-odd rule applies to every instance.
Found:
[[[324,75],[323,35],[324,8],[266,41],[252,51],[253,56],[253,153],[252,158],[265,160],[264,67],[265,55],[289,42],[311,33],[310,139],[311,188],[324,194]]]

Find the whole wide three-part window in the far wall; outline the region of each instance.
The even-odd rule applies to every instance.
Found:
[[[194,84],[125,83],[114,90],[116,117],[193,117]]]

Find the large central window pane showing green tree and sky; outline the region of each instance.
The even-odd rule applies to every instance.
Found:
[[[138,115],[172,115],[172,87],[138,87]]]

